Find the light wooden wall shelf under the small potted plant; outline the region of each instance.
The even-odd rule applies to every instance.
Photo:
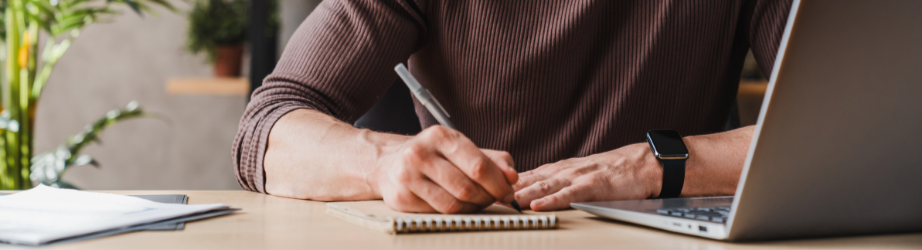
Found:
[[[247,78],[186,77],[167,80],[169,95],[246,96],[250,93]]]

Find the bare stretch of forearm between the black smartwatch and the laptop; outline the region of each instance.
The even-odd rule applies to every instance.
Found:
[[[685,137],[689,155],[683,197],[732,195],[749,152],[754,126]],[[658,191],[657,191],[658,192]]]

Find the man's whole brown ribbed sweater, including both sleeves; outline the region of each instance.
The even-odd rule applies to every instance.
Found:
[[[240,121],[233,157],[265,192],[269,131],[315,109],[352,123],[399,62],[482,148],[519,171],[642,142],[649,129],[721,131],[752,47],[770,73],[790,0],[327,0],[291,38]],[[425,128],[435,119],[416,103]]]

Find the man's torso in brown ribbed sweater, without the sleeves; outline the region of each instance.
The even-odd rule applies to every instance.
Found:
[[[650,129],[721,131],[749,46],[736,0],[422,8],[428,32],[411,71],[461,132],[509,151],[519,171],[642,142]],[[423,127],[436,124],[416,110]]]

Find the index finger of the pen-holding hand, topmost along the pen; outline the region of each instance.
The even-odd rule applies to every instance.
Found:
[[[417,138],[432,143],[445,159],[480,184],[491,196],[504,203],[512,202],[512,185],[506,180],[503,171],[460,132],[436,125],[420,132]]]

